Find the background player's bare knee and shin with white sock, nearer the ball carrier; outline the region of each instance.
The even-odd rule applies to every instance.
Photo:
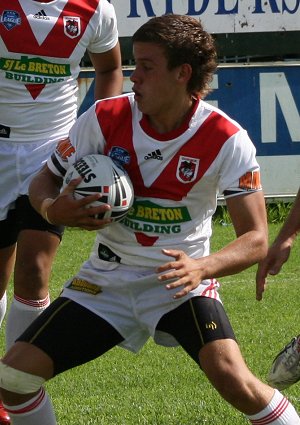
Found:
[[[7,348],[50,303],[49,278],[59,243],[59,237],[50,232],[23,230],[19,234]]]

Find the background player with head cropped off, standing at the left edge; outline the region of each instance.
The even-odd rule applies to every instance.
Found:
[[[75,121],[86,49],[96,72],[96,99],[121,94],[123,77],[115,12],[107,0],[2,1],[0,16],[0,322],[14,272],[10,347],[49,305],[49,275],[63,227],[31,207],[28,185]],[[7,421],[0,409],[0,424]]]

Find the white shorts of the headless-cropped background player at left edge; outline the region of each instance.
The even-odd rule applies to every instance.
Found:
[[[34,174],[45,164],[56,147],[57,141],[39,143],[0,142],[0,220],[14,208],[20,195],[28,193],[29,183]]]

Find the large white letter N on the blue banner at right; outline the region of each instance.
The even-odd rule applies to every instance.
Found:
[[[276,103],[281,108],[292,142],[300,142],[300,115],[283,72],[260,73],[261,141],[276,143]]]

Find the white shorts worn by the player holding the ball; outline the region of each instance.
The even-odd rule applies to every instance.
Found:
[[[110,323],[124,338],[123,348],[137,352],[150,336],[164,346],[177,346],[169,334],[156,331],[161,317],[193,296],[220,301],[215,280],[203,281],[187,296],[174,299],[179,288],[167,290],[153,269],[108,263],[112,270],[93,268],[87,261],[64,287],[62,297],[70,298]]]

